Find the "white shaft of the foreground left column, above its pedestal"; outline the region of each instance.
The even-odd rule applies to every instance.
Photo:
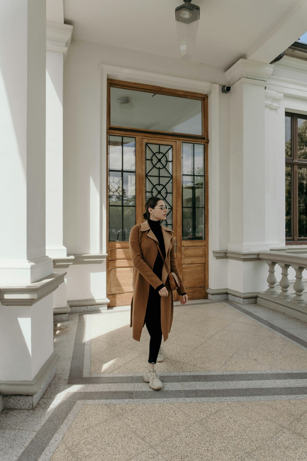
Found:
[[[52,273],[45,239],[44,2],[1,2],[0,283]]]

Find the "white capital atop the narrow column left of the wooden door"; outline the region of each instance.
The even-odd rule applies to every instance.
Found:
[[[64,61],[70,47],[73,26],[47,21],[46,23],[46,50],[64,54]]]

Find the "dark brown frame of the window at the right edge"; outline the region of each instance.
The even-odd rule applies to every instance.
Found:
[[[298,236],[298,169],[307,168],[307,159],[298,158],[298,118],[307,120],[307,114],[285,112],[285,117],[291,117],[291,149],[292,157],[285,156],[285,166],[292,168],[291,181],[291,229],[292,236],[285,237],[286,245],[303,245],[307,237]]]

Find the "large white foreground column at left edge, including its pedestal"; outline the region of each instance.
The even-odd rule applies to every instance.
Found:
[[[45,2],[2,1],[0,29],[0,393],[36,394],[54,374],[51,293],[64,275],[46,257]]]

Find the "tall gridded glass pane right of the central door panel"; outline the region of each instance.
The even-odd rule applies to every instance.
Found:
[[[182,240],[205,239],[203,144],[182,143]]]

